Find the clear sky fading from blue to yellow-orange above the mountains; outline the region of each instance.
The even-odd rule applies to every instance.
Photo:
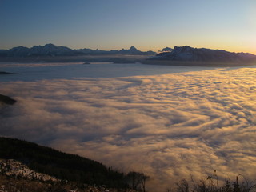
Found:
[[[193,46],[256,54],[254,0],[0,0],[0,49]]]

